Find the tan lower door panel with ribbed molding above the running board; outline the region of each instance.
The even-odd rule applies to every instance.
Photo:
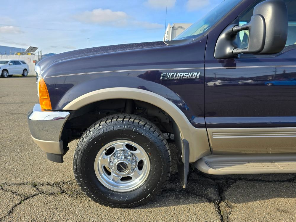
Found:
[[[295,127],[208,128],[213,154],[296,153]]]

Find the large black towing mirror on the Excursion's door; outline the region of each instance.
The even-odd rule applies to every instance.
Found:
[[[238,48],[237,35],[249,30],[248,47]],[[216,59],[235,58],[238,54],[274,54],[284,49],[288,35],[288,11],[283,0],[267,0],[255,6],[251,21],[229,25],[218,38]]]

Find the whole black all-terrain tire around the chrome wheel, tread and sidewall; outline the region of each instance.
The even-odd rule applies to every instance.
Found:
[[[100,183],[94,170],[99,150],[120,139],[141,145],[150,160],[148,178],[129,192],[108,189]],[[153,198],[168,181],[170,166],[170,150],[160,130],[150,121],[129,114],[111,115],[89,127],[81,136],[73,159],[75,179],[82,191],[91,200],[109,207],[134,207]]]

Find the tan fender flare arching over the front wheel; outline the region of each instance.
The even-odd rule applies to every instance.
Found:
[[[84,94],[83,96],[79,96],[67,104],[63,110],[78,110],[87,104],[106,99],[135,99],[159,107],[167,112],[171,118],[173,118],[180,130],[181,139],[189,141],[189,161],[191,163],[201,157],[210,155],[206,129],[195,128],[175,104],[163,96],[147,90],[126,87],[100,89]]]

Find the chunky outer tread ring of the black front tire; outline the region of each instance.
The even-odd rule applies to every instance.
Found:
[[[91,140],[90,139],[91,136],[93,136],[93,133],[96,132],[98,129],[105,129],[104,127],[108,125],[118,125],[118,124],[126,124],[126,125],[133,125],[133,126],[140,127],[143,129],[142,134],[145,133],[145,131],[146,132],[149,131],[150,134],[152,135],[150,140],[157,141],[158,143],[157,148],[160,149],[160,153],[162,154],[160,156],[162,157],[161,159],[163,161],[163,165],[162,165],[162,169],[160,169],[161,176],[157,186],[152,192],[150,192],[149,195],[147,195],[147,197],[139,201],[133,202],[131,204],[116,204],[116,203],[110,203],[110,202],[107,203],[107,202],[101,201],[100,199],[96,198],[94,196],[94,193],[92,193],[84,185],[85,179],[81,174],[82,168],[83,168],[83,163],[81,163],[82,162],[81,158],[83,156],[83,152],[85,151],[85,148],[87,147],[87,144]],[[116,129],[113,129],[113,130],[116,130]],[[115,208],[135,207],[135,206],[144,204],[145,202],[153,198],[155,195],[160,193],[163,190],[166,182],[168,181],[168,178],[170,176],[170,168],[171,168],[170,149],[166,139],[163,136],[163,133],[157,128],[157,126],[155,126],[149,120],[139,117],[137,115],[130,115],[130,114],[111,115],[91,125],[79,139],[74,152],[74,157],[73,157],[73,171],[74,171],[75,180],[77,184],[80,186],[83,193],[85,193],[89,198],[91,198],[91,200],[94,200],[101,205],[108,206],[108,207],[115,207]]]

